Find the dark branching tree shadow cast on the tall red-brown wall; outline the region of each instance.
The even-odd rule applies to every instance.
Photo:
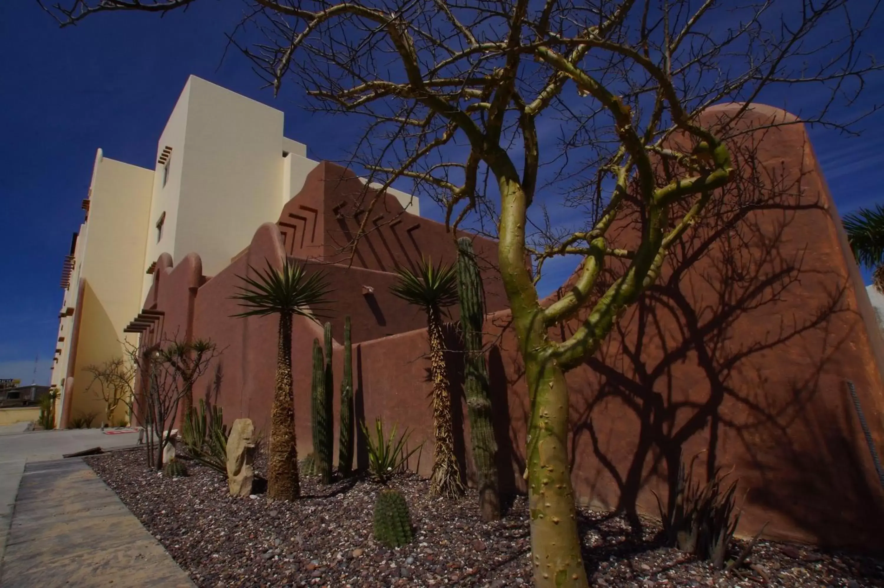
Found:
[[[819,218],[831,222],[824,202],[805,194],[817,187],[813,179],[762,168],[753,145],[734,151],[743,175],[711,203],[667,257],[663,277],[585,362],[600,382],[589,397],[572,398],[572,447],[589,438],[601,466],[593,484],[605,474],[613,480],[617,509],[636,531],[647,489],[664,480],[671,507],[682,451],[703,448],[707,479],[719,464],[758,472],[760,480],[743,484],[751,488],[748,500],[789,516],[824,543],[833,535],[843,541],[881,520],[861,515],[875,495],[880,508],[880,493],[867,477],[849,473],[868,461],[867,452],[852,451],[840,463],[814,459],[845,455],[857,433],[845,428],[846,416],[833,427],[812,414],[834,392],[832,374],[842,370],[835,355],[860,318],[845,300],[842,272],[805,256],[808,248],[795,242],[812,239],[803,231],[822,225]],[[617,417],[624,412],[637,431],[618,436],[618,423],[630,421]],[[730,462],[735,454],[752,462]],[[572,468],[576,457],[573,451]],[[837,505],[840,515],[823,505]]]

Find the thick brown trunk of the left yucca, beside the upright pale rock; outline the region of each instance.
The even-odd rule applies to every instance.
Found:
[[[271,409],[271,447],[267,459],[267,495],[293,500],[301,494],[292,393],[292,315],[279,314],[276,392]]]

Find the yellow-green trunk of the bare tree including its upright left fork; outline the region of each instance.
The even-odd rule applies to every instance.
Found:
[[[525,475],[534,585],[588,588],[568,462],[568,385],[564,371],[550,358],[552,343],[546,336],[537,288],[527,263],[525,224],[529,199],[507,153],[500,149],[491,155],[486,161],[500,190],[500,277],[513,313],[530,395]]]

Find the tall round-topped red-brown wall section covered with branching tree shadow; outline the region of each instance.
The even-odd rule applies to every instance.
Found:
[[[758,107],[735,131],[773,117],[789,120]],[[881,447],[880,332],[831,195],[803,126],[744,135],[731,149],[761,166],[740,164],[659,282],[568,374],[577,493],[655,513],[667,460],[674,470],[679,448],[686,459],[705,450],[698,473],[734,468],[740,480],[743,533],[769,523],[771,537],[880,549],[884,493],[845,382]],[[612,246],[634,234],[621,227]],[[510,352],[503,363],[514,362]],[[524,400],[510,412],[527,414]]]

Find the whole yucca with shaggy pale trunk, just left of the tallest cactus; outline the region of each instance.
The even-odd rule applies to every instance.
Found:
[[[390,288],[392,294],[421,307],[427,313],[435,436],[431,492],[448,497],[457,496],[463,492],[463,484],[461,470],[454,456],[451,394],[448,389],[442,333],[445,309],[457,303],[457,271],[442,263],[434,267],[430,260],[422,259],[416,272],[402,268],[396,272],[399,276]]]

